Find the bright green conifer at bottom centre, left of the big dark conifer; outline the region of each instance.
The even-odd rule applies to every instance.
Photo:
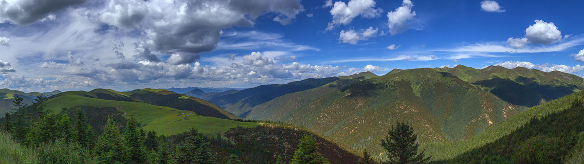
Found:
[[[298,150],[294,152],[294,158],[290,164],[321,164],[329,163],[321,153],[317,152],[317,141],[310,135],[300,138]]]

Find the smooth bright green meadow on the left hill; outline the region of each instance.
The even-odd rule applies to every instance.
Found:
[[[227,131],[229,128],[255,127],[260,124],[198,116],[192,111],[176,110],[171,107],[141,102],[102,100],[77,95],[62,95],[47,101],[47,107],[53,111],[59,111],[61,107],[70,109],[75,106],[117,107],[118,110],[125,113],[124,117],[134,116],[138,123],[144,125],[144,130],[153,130],[159,135],[178,134],[188,131],[191,127],[195,127],[205,134],[214,135],[217,132]],[[180,114],[179,111],[186,114]]]

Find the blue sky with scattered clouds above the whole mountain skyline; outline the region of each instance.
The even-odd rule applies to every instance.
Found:
[[[584,1],[2,0],[0,88],[249,88],[501,65],[584,76]],[[580,15],[580,16],[578,16]]]

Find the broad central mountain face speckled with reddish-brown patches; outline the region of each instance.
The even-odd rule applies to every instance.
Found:
[[[312,100],[280,121],[322,132],[375,156],[395,121],[409,121],[420,142],[470,138],[517,113],[496,96],[434,69],[409,69],[353,83]]]

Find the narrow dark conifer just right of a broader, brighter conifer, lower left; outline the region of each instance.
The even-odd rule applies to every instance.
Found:
[[[127,163],[144,163],[146,161],[146,151],[144,147],[144,138],[138,131],[138,123],[133,116],[126,124],[124,131],[124,144],[126,144]]]

